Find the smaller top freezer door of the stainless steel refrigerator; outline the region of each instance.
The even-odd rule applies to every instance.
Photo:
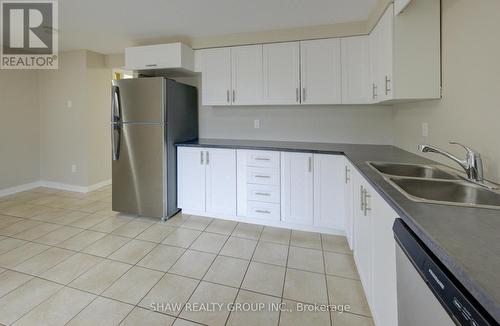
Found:
[[[113,80],[112,122],[165,121],[165,78]],[[120,115],[119,117],[116,117]]]

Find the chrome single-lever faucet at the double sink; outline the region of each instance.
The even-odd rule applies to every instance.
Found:
[[[481,155],[475,150],[465,145],[462,145],[458,142],[452,141],[450,142],[450,144],[462,146],[466,150],[467,157],[465,158],[465,160],[461,160],[451,155],[450,153],[443,151],[439,148],[436,148],[432,145],[418,145],[418,149],[422,153],[438,153],[446,156],[450,160],[459,164],[465,170],[468,180],[482,183],[484,181],[484,178],[483,178],[483,161],[481,159]]]

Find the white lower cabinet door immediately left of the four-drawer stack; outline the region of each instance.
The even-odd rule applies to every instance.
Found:
[[[236,215],[236,150],[206,151],[208,213]]]

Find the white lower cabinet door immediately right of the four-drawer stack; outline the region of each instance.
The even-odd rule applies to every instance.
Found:
[[[313,155],[281,153],[281,216],[287,223],[313,224]]]

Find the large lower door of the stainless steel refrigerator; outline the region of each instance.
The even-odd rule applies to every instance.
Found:
[[[120,153],[113,160],[113,210],[163,218],[165,212],[165,127],[120,126]]]

